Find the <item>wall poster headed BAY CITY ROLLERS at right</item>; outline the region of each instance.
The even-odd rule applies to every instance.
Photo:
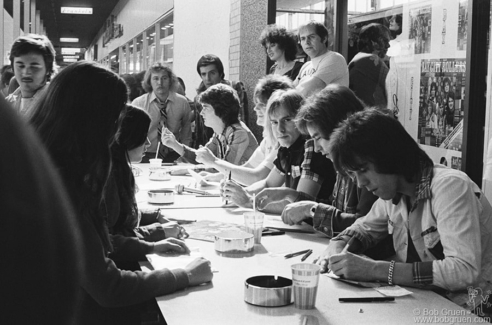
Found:
[[[421,60],[418,142],[461,151],[465,99],[465,59]],[[461,164],[454,159],[453,168]]]

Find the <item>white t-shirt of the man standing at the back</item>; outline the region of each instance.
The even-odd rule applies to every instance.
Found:
[[[349,73],[345,58],[337,52],[328,51],[304,63],[297,76],[297,83],[304,77],[317,77],[326,85],[339,84],[348,87]]]

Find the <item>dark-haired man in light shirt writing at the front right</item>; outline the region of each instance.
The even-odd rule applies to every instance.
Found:
[[[342,122],[329,153],[339,173],[379,199],[330,241],[318,262],[323,270],[353,280],[438,288],[464,308],[476,307],[467,304],[467,290],[485,296],[492,289],[492,208],[479,187],[465,173],[434,164],[397,120],[376,110]],[[396,251],[391,262],[354,254],[388,234]]]

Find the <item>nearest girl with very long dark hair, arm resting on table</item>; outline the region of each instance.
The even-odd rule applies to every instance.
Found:
[[[133,310],[129,306],[212,279],[210,262],[201,258],[184,269],[144,273],[120,270],[107,257],[113,251],[106,222],[112,211],[105,200],[112,168],[109,145],[127,96],[118,75],[99,64],[79,61],[53,79],[30,119],[62,176],[80,222],[85,251],[80,257],[85,262],[80,279],[83,324],[108,324],[115,322],[114,317],[139,318],[128,315]],[[187,249],[178,239],[162,242],[149,245],[148,253],[184,253]]]

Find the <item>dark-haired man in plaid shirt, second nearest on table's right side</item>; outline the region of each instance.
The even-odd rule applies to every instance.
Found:
[[[330,158],[328,143],[338,123],[353,113],[364,110],[363,102],[348,87],[336,84],[325,87],[311,96],[296,116],[297,128],[309,134],[314,151]],[[289,225],[307,221],[329,238],[350,226],[369,212],[377,196],[365,188],[357,187],[349,176],[337,173],[330,204],[327,202],[299,201],[288,204],[282,211],[282,220]],[[394,254],[391,238],[374,247],[366,255],[383,258]]]

